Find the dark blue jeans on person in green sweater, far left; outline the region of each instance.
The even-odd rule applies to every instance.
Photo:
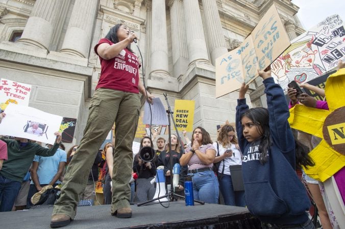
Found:
[[[0,175],[0,212],[10,212],[16,201],[21,183]]]

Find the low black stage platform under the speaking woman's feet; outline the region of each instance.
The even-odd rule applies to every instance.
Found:
[[[168,206],[168,203],[162,203]],[[160,204],[132,205],[133,216],[119,219],[110,215],[110,205],[78,207],[77,216],[62,228],[261,228],[259,220],[246,208],[196,204],[184,201]],[[52,205],[36,209],[0,213],[0,228],[50,228]]]

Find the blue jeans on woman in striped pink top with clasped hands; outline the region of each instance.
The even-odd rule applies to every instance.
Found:
[[[219,184],[213,171],[202,171],[188,175],[193,175],[194,199],[208,204],[218,204]]]

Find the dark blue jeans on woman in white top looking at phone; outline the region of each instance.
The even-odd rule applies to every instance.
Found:
[[[225,205],[245,207],[244,191],[234,191],[231,176],[223,174],[219,181],[219,189],[224,198]]]

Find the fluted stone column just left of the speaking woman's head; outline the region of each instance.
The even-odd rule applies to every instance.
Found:
[[[88,57],[97,1],[76,0],[60,52]]]

